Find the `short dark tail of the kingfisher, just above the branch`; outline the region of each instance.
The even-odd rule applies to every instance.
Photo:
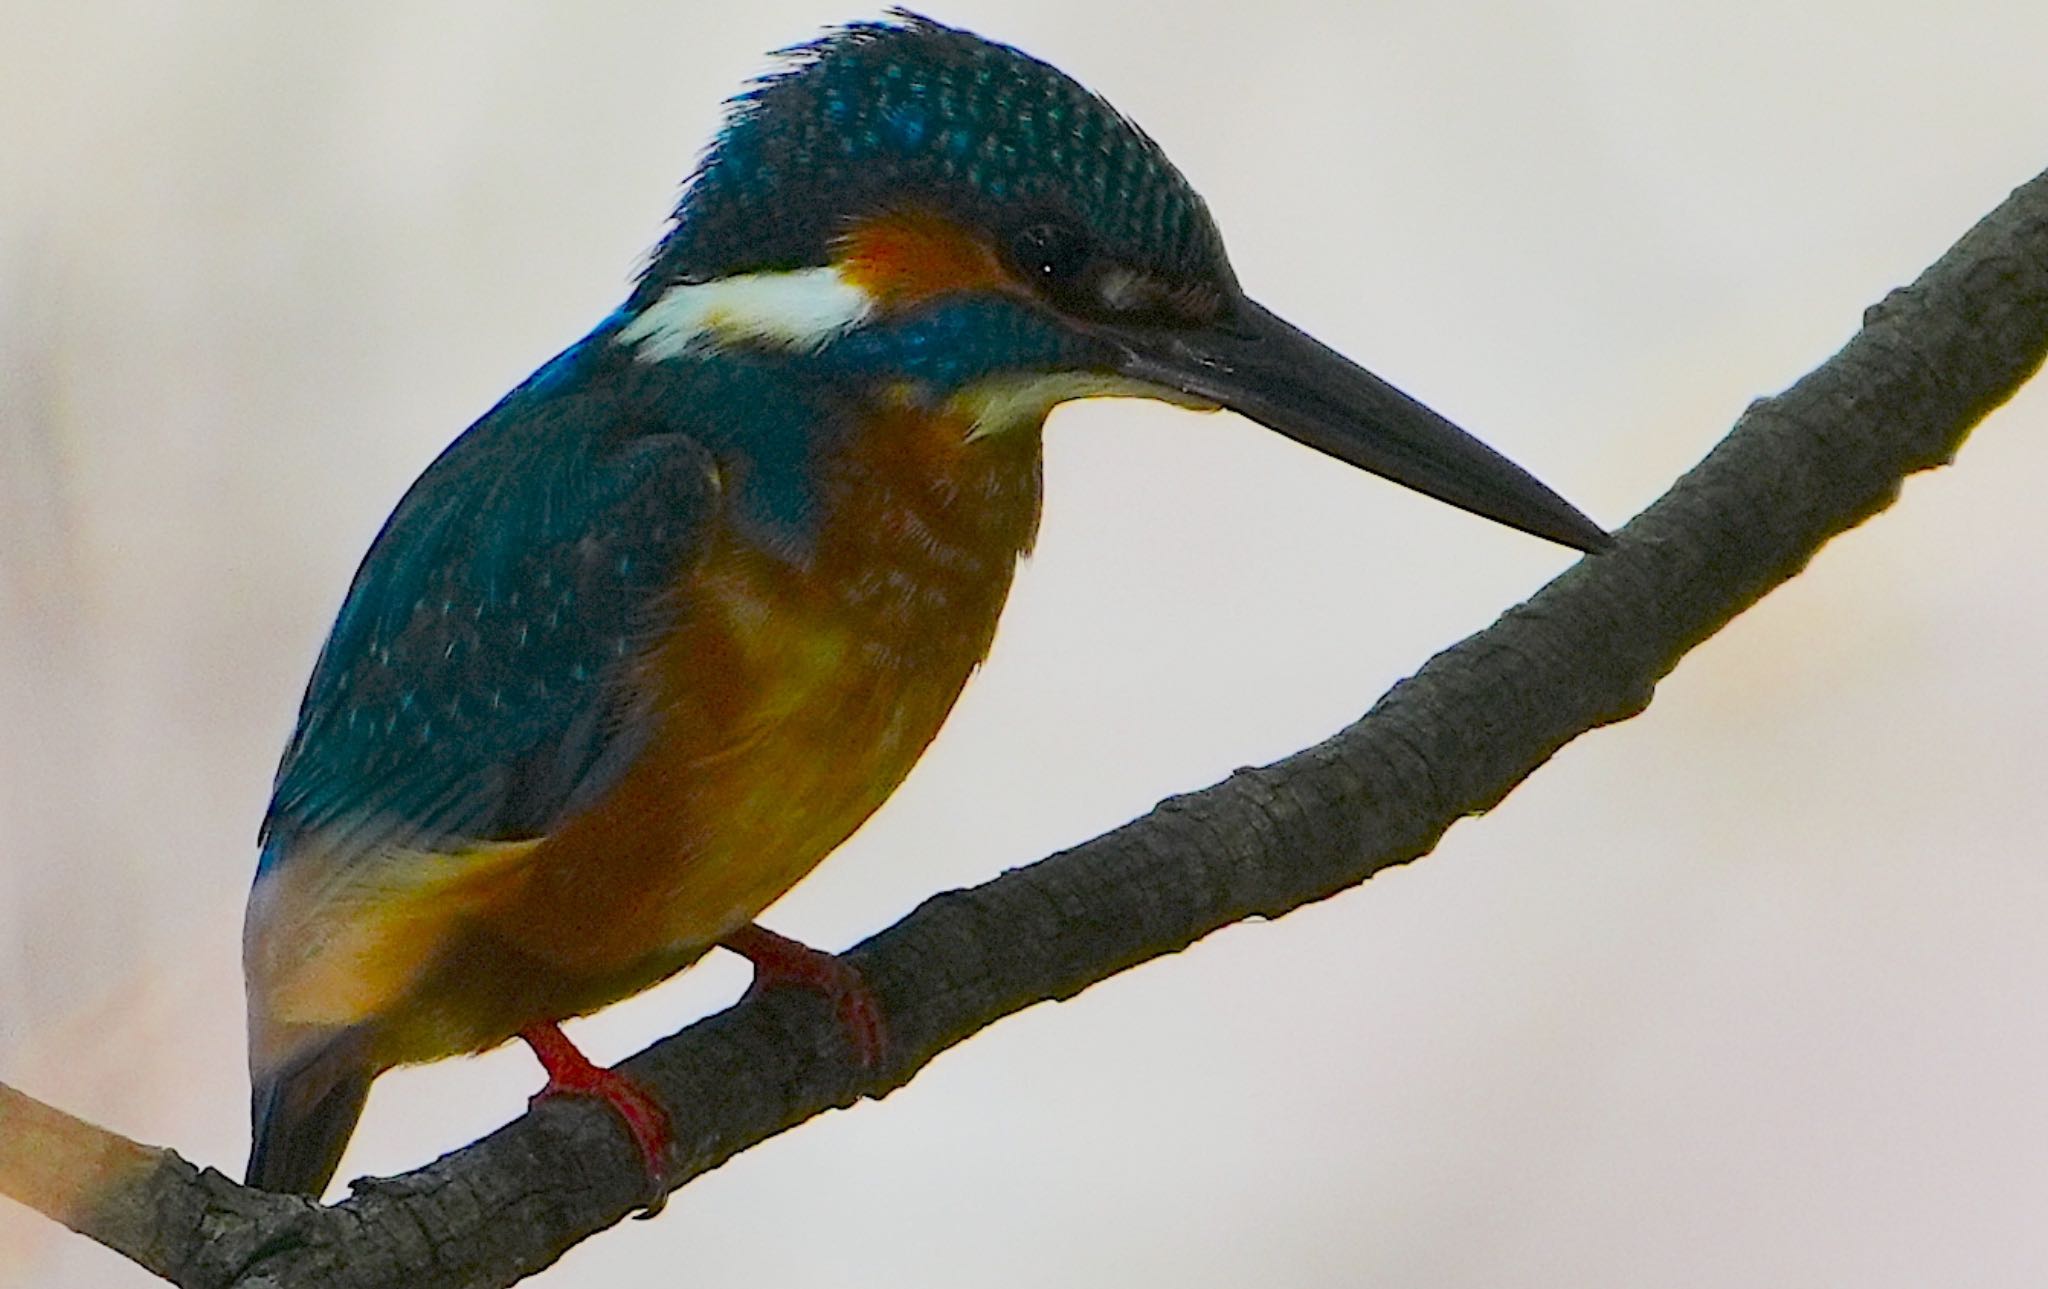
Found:
[[[352,1033],[250,1086],[250,1187],[319,1199],[362,1117],[377,1070]]]

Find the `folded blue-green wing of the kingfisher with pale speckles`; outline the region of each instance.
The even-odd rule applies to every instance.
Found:
[[[633,668],[674,625],[717,467],[662,402],[580,379],[586,340],[473,424],[371,545],[264,820],[440,848],[545,834],[645,744]]]

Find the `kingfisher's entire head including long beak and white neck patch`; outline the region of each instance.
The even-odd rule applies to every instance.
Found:
[[[1253,303],[1157,143],[1067,74],[895,12],[788,51],[684,189],[618,332],[643,361],[768,350],[958,414],[1231,408],[1577,549],[1518,465]]]

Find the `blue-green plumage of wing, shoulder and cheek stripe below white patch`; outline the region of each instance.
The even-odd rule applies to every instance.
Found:
[[[623,680],[672,625],[715,506],[801,562],[823,457],[868,391],[940,398],[1085,350],[999,299],[850,332],[803,367],[637,363],[600,328],[457,439],[385,523],[313,668],[266,830],[350,828],[365,848],[545,834],[645,740]]]

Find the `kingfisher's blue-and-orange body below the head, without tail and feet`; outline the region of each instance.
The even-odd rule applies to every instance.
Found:
[[[299,1014],[266,1023],[373,1025],[381,1064],[489,1047],[688,965],[881,805],[1038,516],[1036,424],[969,443],[913,398],[973,352],[944,340],[791,371],[600,336],[449,449],[285,758],[268,853],[301,893],[250,963]]]

